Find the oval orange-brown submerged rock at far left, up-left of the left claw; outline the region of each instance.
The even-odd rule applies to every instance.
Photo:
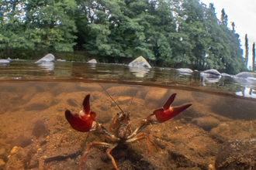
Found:
[[[51,106],[52,101],[51,93],[36,93],[24,108],[25,110],[45,110]]]

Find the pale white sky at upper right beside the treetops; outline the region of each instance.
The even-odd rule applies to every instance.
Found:
[[[254,42],[256,43],[256,0],[200,0],[200,2],[206,4],[207,8],[209,8],[209,3],[213,3],[218,19],[220,19],[221,10],[224,8],[227,14],[228,27],[231,29],[231,22],[234,22],[236,33],[240,35],[243,56],[245,54],[244,39],[245,34],[247,34],[249,46],[248,67],[251,66],[252,45]]]

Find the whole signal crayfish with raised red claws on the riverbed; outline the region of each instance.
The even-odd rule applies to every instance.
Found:
[[[162,108],[154,110],[153,114],[150,114],[145,119],[140,121],[140,124],[137,126],[135,131],[132,131],[131,129],[130,112],[123,111],[118,106],[118,104],[116,104],[115,100],[112,99],[109,93],[109,97],[115,102],[121,112],[117,113],[116,116],[112,118],[112,121],[110,122],[108,128],[104,128],[102,124],[99,124],[98,121],[95,121],[96,114],[90,109],[90,94],[87,94],[85,96],[85,99],[83,101],[83,110],[79,111],[78,114],[72,114],[71,111],[67,109],[65,111],[65,117],[69,124],[71,124],[71,127],[74,128],[74,130],[81,132],[97,132],[103,134],[106,140],[109,141],[109,143],[99,141],[92,141],[91,143],[89,143],[85,147],[85,153],[81,156],[78,165],[79,170],[81,170],[81,165],[83,162],[85,162],[85,158],[88,155],[91,147],[107,147],[106,154],[111,159],[112,164],[115,166],[116,170],[119,170],[119,168],[117,167],[112,155],[110,155],[110,151],[112,151],[112,149],[120,143],[130,143],[132,141],[140,141],[145,139],[147,144],[147,154],[152,155],[149,143],[154,145],[157,151],[160,151],[160,149],[149,137],[149,135],[141,131],[144,130],[144,128],[146,128],[149,124],[158,124],[170,120],[172,117],[177,116],[178,114],[182,113],[183,110],[187,109],[192,105],[184,104],[178,107],[171,107],[171,103],[175,100],[176,94],[177,93],[173,93]],[[131,101],[132,100],[133,98],[131,99]]]

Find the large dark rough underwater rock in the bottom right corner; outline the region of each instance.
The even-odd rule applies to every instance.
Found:
[[[216,156],[216,170],[255,169],[256,138],[243,138],[226,141]]]

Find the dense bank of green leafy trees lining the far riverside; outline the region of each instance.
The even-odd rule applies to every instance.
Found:
[[[61,56],[83,48],[86,54],[61,58],[120,63],[144,56],[152,66],[232,74],[247,66],[234,22],[227,28],[224,9],[217,19],[213,3],[206,8],[199,0],[3,0],[0,7],[0,55],[12,49],[33,59],[35,53]]]

